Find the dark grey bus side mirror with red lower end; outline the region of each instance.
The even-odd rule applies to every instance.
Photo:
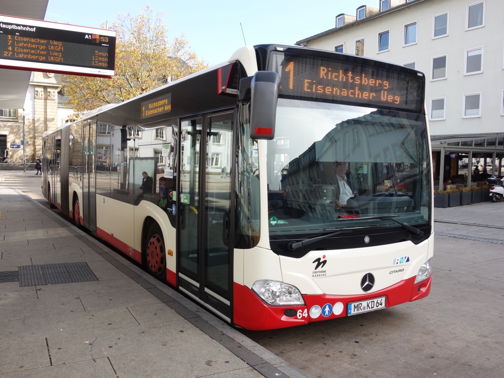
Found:
[[[241,84],[241,83],[240,83]],[[280,77],[276,72],[258,71],[250,82],[250,138],[275,137]]]

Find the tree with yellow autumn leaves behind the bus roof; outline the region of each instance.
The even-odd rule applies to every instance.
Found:
[[[77,114],[128,100],[208,67],[183,33],[168,40],[162,12],[154,15],[149,5],[142,10],[137,16],[118,14],[111,25],[117,33],[112,79],[61,76],[67,105]]]

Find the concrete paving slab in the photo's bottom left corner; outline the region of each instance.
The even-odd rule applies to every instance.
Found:
[[[29,343],[19,341],[0,343],[0,366],[2,371],[24,371],[50,366],[45,338],[33,338]]]

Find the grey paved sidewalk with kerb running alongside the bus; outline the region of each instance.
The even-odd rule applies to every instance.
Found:
[[[0,377],[306,376],[53,211],[4,185]],[[25,273],[38,268],[46,281],[40,276],[30,281],[33,285],[25,280],[28,286],[20,286],[13,281],[20,267]],[[67,274],[81,268],[74,276]],[[66,283],[44,285],[51,280]]]

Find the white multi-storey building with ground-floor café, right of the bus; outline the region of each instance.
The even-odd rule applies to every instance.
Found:
[[[374,0],[336,26],[296,44],[404,65],[426,77],[435,176],[467,163],[502,174],[504,33],[502,0]],[[440,154],[442,152],[442,154]],[[446,159],[449,155],[450,164]],[[479,160],[478,160],[479,159]],[[440,160],[444,162],[440,163]],[[457,164],[458,163],[458,164]],[[437,165],[437,166],[436,166]],[[445,167],[445,169],[440,169]],[[467,182],[467,181],[466,181]]]

